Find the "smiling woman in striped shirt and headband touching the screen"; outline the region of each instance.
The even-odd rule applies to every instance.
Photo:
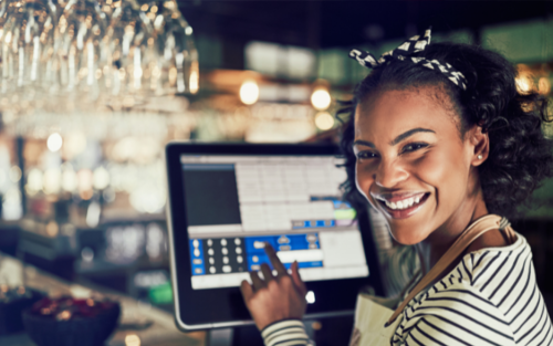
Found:
[[[351,53],[373,71],[355,91],[343,134],[346,197],[376,208],[422,264],[415,283],[424,290],[399,311],[389,344],[553,345],[530,247],[504,220],[438,263],[469,226],[512,217],[552,176],[552,145],[541,130],[546,101],[518,92],[501,55],[429,41],[427,31],[379,60]],[[267,345],[307,345],[298,265],[289,275],[268,253],[279,274],[267,265],[265,280],[251,273],[246,304]],[[439,275],[421,279],[438,266]]]

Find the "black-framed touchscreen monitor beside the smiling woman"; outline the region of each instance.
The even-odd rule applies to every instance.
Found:
[[[363,284],[378,286],[341,164],[335,146],[168,145],[177,325],[251,323],[239,286],[269,263],[265,242],[286,268],[299,262],[310,315],[349,313]]]

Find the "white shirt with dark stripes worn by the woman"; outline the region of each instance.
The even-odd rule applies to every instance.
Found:
[[[535,283],[524,237],[508,247],[471,252],[404,310],[392,346],[553,345],[553,329]],[[283,323],[283,322],[282,322]],[[273,331],[281,323],[271,325]],[[265,345],[309,345],[307,340]]]

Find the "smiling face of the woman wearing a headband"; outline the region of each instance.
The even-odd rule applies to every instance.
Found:
[[[403,244],[470,220],[474,146],[461,139],[458,123],[449,97],[435,87],[387,91],[357,106],[357,189]]]

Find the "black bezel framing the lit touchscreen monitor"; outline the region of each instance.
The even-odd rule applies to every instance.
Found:
[[[182,331],[206,328],[206,325],[232,325],[251,321],[242,301],[239,287],[192,290],[187,230],[184,182],[180,156],[194,155],[341,155],[336,145],[319,144],[198,144],[169,143],[166,146],[168,179],[168,201],[170,213],[171,272],[177,326]],[[358,291],[371,285],[376,294],[383,294],[378,260],[368,217],[359,216],[365,255],[369,269],[368,277],[340,279],[332,281],[307,282],[310,291],[315,292],[316,301],[309,304],[309,315],[332,315],[346,311],[353,312]],[[186,244],[176,247],[176,244]]]

